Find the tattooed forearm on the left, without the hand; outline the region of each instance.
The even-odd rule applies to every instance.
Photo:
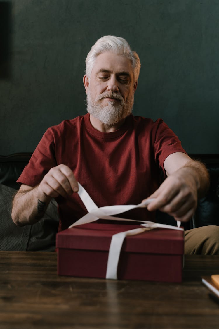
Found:
[[[42,218],[51,197],[45,195],[38,186],[31,190],[19,190],[14,196],[11,217],[18,226],[34,224]]]

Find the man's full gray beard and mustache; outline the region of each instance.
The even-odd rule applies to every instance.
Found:
[[[115,105],[109,101],[107,106],[102,107],[100,100],[107,97],[116,98],[120,100],[120,103]],[[93,100],[90,91],[88,90],[87,92],[87,112],[109,126],[119,123],[121,120],[130,115],[132,113],[133,104],[134,93],[125,103],[123,97],[117,95],[116,93],[107,92],[100,94],[95,100]]]

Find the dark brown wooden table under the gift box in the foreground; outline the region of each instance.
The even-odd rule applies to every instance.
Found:
[[[0,328],[219,328],[201,283],[219,256],[186,256],[181,284],[58,276],[56,257],[0,251]]]

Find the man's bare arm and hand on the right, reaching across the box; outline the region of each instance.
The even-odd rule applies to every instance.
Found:
[[[188,221],[195,212],[198,198],[209,188],[209,175],[204,164],[185,153],[169,155],[164,161],[167,178],[148,198],[155,198],[147,209],[159,209],[176,220]]]

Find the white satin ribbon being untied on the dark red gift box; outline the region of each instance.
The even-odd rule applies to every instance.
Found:
[[[120,232],[112,236],[110,248],[109,248],[108,261],[107,261],[106,279],[117,280],[117,268],[120,258],[120,251],[121,251],[122,243],[126,236],[140,234],[146,230],[151,230],[156,227],[167,228],[172,230],[182,230],[182,231],[184,230],[183,228],[180,228],[181,225],[180,221],[177,221],[177,227],[176,227],[172,225],[158,224],[150,221],[125,219],[125,218],[112,216],[112,215],[124,213],[131,209],[144,208],[154,199],[147,199],[138,205],[116,205],[116,206],[107,206],[107,207],[98,208],[98,206],[91,199],[87,191],[79,183],[78,183],[78,187],[79,187],[78,195],[80,196],[82,202],[84,203],[88,213],[83,217],[81,217],[80,219],[78,219],[75,223],[70,225],[69,228],[77,225],[91,223],[99,218],[122,220],[122,221],[136,221],[136,222],[144,223],[144,224],[140,224],[140,226],[144,226],[144,227],[140,227],[125,232]]]

